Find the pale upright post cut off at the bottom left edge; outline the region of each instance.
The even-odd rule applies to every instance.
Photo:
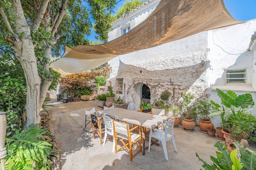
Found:
[[[6,116],[5,112],[0,111],[0,160],[1,160],[1,169],[5,170],[4,158],[6,157],[6,148],[5,145],[5,135],[6,135]]]

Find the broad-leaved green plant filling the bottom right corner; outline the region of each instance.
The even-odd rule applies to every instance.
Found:
[[[236,146],[239,149],[234,149],[231,153],[226,151],[226,146],[222,142],[218,141],[214,145],[217,158],[210,156],[212,164],[208,164],[201,159],[198,153],[195,153],[196,157],[203,163],[202,167],[205,170],[253,170],[256,167],[256,152],[248,148],[244,149],[237,143]]]

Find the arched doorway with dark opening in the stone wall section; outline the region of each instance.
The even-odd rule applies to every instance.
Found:
[[[132,98],[134,104],[139,106],[141,102],[149,102],[150,103],[150,88],[143,83],[137,83],[133,86],[134,93],[132,94]]]

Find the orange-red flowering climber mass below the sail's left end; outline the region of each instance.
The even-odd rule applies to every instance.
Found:
[[[76,74],[69,74],[66,77],[62,77],[60,81],[61,91],[74,91],[81,90],[85,87],[91,87],[95,82],[95,77],[99,75],[108,76],[109,68],[105,67],[101,70],[92,72],[82,72]]]

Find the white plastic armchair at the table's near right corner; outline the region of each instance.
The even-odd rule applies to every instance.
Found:
[[[149,152],[150,152],[150,146],[151,146],[151,138],[156,138],[162,143],[162,148],[163,152],[165,155],[165,159],[168,161],[168,153],[167,153],[167,148],[166,148],[166,142],[169,140],[172,140],[173,146],[175,151],[177,152],[177,146],[175,144],[175,139],[173,135],[173,126],[174,126],[174,121],[175,118],[167,121],[164,124],[164,130],[156,129],[156,128],[151,128],[150,129],[150,134],[149,134]],[[153,132],[153,130],[155,132]]]

